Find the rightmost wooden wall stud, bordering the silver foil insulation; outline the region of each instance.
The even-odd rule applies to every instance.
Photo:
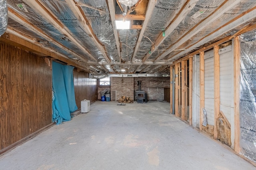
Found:
[[[240,152],[240,43],[238,37],[234,38],[234,151]]]

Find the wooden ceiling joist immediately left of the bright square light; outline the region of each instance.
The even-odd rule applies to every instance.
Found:
[[[119,63],[122,63],[120,41],[119,41],[118,31],[116,30],[116,23],[115,23],[115,11],[116,11],[116,8],[115,8],[116,3],[115,2],[116,2],[116,0],[108,0],[108,8],[110,10],[110,18],[111,18],[112,27],[113,27],[113,31],[114,31],[114,37],[115,37],[115,41],[116,41],[116,48],[118,51]]]

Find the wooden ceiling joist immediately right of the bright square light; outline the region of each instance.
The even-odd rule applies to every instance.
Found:
[[[139,37],[137,39],[137,43],[136,43],[136,46],[134,48],[134,52],[133,52],[133,55],[132,55],[132,63],[134,63],[134,59],[135,59],[137,51],[139,49],[140,42],[142,41],[144,31],[146,30],[148,22],[150,21],[150,17],[151,17],[151,15],[153,13],[153,10],[154,10],[154,7],[156,5],[156,2],[157,2],[156,0],[150,0],[148,2],[148,8],[147,8],[147,11],[146,11],[145,20],[144,20],[142,28],[140,30],[140,35],[139,35]]]

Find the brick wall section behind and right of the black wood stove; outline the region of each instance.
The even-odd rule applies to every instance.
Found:
[[[148,93],[148,100],[164,100],[164,88],[170,88],[170,77],[134,77],[134,89],[141,81],[141,90]]]

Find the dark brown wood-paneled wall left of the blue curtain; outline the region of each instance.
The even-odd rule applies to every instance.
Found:
[[[0,151],[52,123],[48,59],[0,42]]]

